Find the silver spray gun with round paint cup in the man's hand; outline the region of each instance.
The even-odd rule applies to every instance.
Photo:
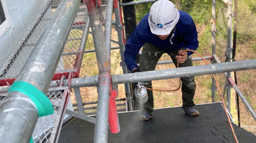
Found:
[[[148,83],[138,82],[137,88],[135,88],[134,90],[136,101],[140,104],[146,103],[148,99],[146,88],[142,84],[148,84]]]

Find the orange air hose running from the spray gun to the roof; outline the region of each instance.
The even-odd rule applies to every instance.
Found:
[[[207,61],[206,61],[206,60],[203,58],[203,56],[202,56],[200,53],[198,53],[197,51],[190,50],[190,49],[186,49],[186,50],[183,50],[181,53],[183,53],[183,52],[185,52],[185,51],[195,52],[196,54],[198,54],[198,55],[203,59],[203,61],[205,62],[205,64],[208,65]],[[180,54],[181,54],[181,53],[180,53]],[[179,68],[179,63],[177,63],[177,68]],[[226,105],[225,105],[224,98],[223,98],[223,96],[222,96],[222,92],[221,92],[221,89],[220,89],[220,85],[219,85],[219,83],[218,83],[218,81],[217,81],[217,79],[216,79],[216,77],[215,77],[215,74],[212,74],[212,76],[214,76],[214,79],[215,79],[215,81],[216,81],[217,88],[218,88],[218,90],[219,90],[219,92],[220,92],[221,100],[222,100],[223,105],[224,105],[224,111],[225,111],[225,114],[226,114],[226,117],[227,117],[229,126],[230,126],[230,128],[231,128],[232,134],[233,134],[233,136],[234,136],[234,140],[236,140],[236,142],[238,143],[238,138],[237,138],[237,136],[236,136],[236,133],[234,133],[233,126],[232,126],[232,124],[231,124],[231,121],[230,121],[229,116],[228,116],[228,113],[227,113],[227,109],[226,109]],[[180,89],[180,87],[181,87],[181,80],[180,80],[179,88],[176,89],[176,90],[156,90],[156,89],[151,89],[151,88],[146,88],[146,89],[152,90],[152,91],[169,92],[169,91],[177,91],[177,90]]]

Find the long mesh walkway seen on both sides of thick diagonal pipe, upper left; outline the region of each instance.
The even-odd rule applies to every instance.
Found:
[[[45,31],[45,28],[51,20],[59,3],[60,1],[58,0],[50,1],[41,12],[41,15],[38,17],[29,33],[20,42],[9,60],[6,62],[5,66],[0,71],[0,78],[15,77],[18,75],[37,41]],[[84,48],[83,40],[84,36],[86,36],[84,31],[88,28],[88,21],[89,18],[86,4],[81,3],[56,71],[60,72],[60,70],[75,68],[76,59],[78,57],[77,54],[81,54],[81,49]]]

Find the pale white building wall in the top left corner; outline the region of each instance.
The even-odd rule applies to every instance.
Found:
[[[0,37],[0,69],[2,69],[3,64],[5,64],[15,50],[15,47],[24,38],[49,0],[0,1],[2,4],[6,4],[11,20],[11,26]]]

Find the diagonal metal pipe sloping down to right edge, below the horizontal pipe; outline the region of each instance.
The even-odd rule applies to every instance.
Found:
[[[239,90],[238,86],[236,83],[234,83],[234,80],[229,77],[228,78],[229,83],[232,85],[232,87],[234,88],[234,90],[236,90],[237,94],[239,95],[239,97],[241,98],[241,100],[244,102],[244,105],[246,106],[246,108],[250,111],[252,117],[254,118],[254,120],[256,121],[256,113],[254,111],[254,109],[251,107],[251,105],[248,103],[248,101],[246,100],[246,98],[244,97],[243,93]]]

